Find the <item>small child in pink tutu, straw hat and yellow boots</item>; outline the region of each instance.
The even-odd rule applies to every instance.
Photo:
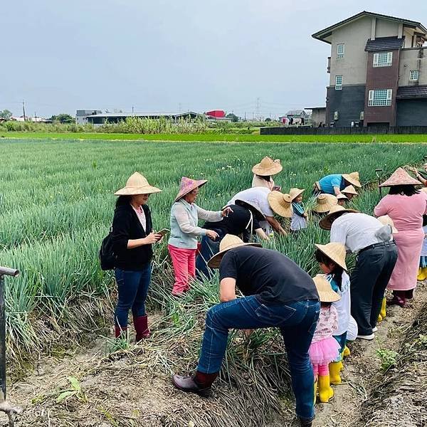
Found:
[[[318,386],[319,400],[325,403],[334,396],[334,391],[330,386],[329,364],[339,356],[340,346],[333,337],[338,327],[338,312],[332,306],[332,302],[338,301],[340,297],[337,292],[332,290],[325,275],[318,274],[313,280],[319,293],[321,306],[319,320],[308,353],[315,374],[315,395]]]

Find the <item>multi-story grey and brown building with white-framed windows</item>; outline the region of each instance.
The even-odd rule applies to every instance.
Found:
[[[427,126],[421,23],[363,11],[312,37],[331,45],[327,126]]]

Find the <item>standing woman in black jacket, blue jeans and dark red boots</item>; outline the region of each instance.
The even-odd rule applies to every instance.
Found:
[[[112,220],[118,291],[115,336],[126,334],[127,317],[132,309],[137,342],[149,337],[145,300],[152,272],[152,244],[162,239],[162,235],[152,232],[152,217],[147,202],[150,194],[160,191],[135,172],[127,180],[126,186],[115,193],[119,196]]]

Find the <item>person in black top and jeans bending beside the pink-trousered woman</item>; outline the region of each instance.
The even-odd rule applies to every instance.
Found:
[[[251,235],[255,234],[260,240],[268,240],[268,236],[260,226],[260,221],[265,221],[265,216],[256,201],[236,200],[236,204],[228,205],[231,211],[218,222],[204,223],[203,228],[214,230],[218,238],[214,241],[208,236],[202,236],[199,254],[196,258],[196,278],[210,279],[214,270],[208,267],[208,261],[219,251],[219,244],[226,234],[241,236],[243,242],[248,243]]]

